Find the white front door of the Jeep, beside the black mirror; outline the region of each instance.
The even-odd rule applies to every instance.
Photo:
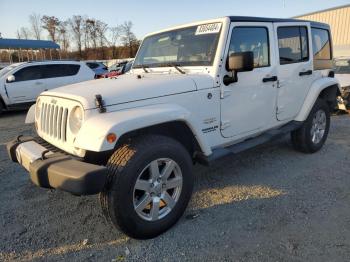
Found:
[[[248,136],[267,129],[276,119],[277,78],[272,23],[231,24],[227,58],[232,53],[254,54],[254,69],[238,72],[238,81],[222,82],[221,134],[223,137]],[[230,75],[223,68],[224,75]]]

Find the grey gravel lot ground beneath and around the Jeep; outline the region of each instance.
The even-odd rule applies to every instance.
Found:
[[[332,118],[316,154],[288,137],[206,168],[185,216],[138,241],[105,222],[98,196],[31,184],[4,144],[31,133],[25,114],[0,118],[0,261],[346,261],[350,258],[350,117]]]

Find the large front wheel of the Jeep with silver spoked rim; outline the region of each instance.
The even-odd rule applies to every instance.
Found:
[[[135,138],[114,152],[107,168],[102,209],[127,235],[155,237],[184,213],[193,188],[192,161],[176,140],[156,135]]]

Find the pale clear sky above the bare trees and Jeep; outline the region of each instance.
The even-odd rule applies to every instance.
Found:
[[[196,20],[225,15],[291,17],[344,4],[350,0],[0,0],[0,32],[3,38],[14,38],[18,28],[29,27],[31,13],[61,20],[79,14],[109,26],[131,20],[141,39],[146,33]]]

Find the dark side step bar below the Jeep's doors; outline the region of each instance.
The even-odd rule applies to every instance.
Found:
[[[237,144],[223,147],[223,148],[217,148],[213,150],[213,153],[210,156],[203,156],[198,155],[198,162],[204,165],[209,165],[212,161],[217,160],[219,158],[222,158],[224,156],[230,155],[230,154],[237,154],[242,151],[248,150],[250,148],[256,147],[258,145],[264,144],[266,142],[269,142],[271,140],[277,139],[279,137],[284,136],[285,134],[298,129],[303,122],[297,122],[292,121],[278,129],[271,129],[269,131],[264,132],[263,134],[248,138],[247,140],[244,140],[242,142],[239,142]]]

